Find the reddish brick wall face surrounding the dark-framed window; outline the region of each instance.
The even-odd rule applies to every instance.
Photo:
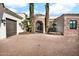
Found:
[[[69,21],[75,19],[77,21],[77,29],[70,29]],[[64,16],[64,35],[79,35],[79,15]]]

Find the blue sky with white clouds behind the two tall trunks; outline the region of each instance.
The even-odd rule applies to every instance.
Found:
[[[26,13],[29,15],[29,3],[26,3],[26,0],[5,0],[4,4],[8,9],[16,13]],[[34,13],[45,14],[45,3],[35,3]],[[79,3],[50,3],[50,16],[60,16],[64,13],[79,13]]]

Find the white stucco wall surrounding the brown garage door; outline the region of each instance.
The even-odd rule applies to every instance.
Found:
[[[17,21],[17,25],[16,25],[17,26],[17,34],[22,32],[22,28],[19,25],[19,23],[21,23],[21,19],[18,19],[18,18],[14,17],[10,14],[7,14],[7,13],[3,13],[2,19],[6,20],[6,18]],[[0,26],[0,39],[3,39],[3,38],[6,38],[6,24],[4,25],[3,23],[1,23],[1,26]]]

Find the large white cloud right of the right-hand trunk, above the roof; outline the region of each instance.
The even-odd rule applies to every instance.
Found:
[[[73,8],[76,7],[77,4],[72,3],[55,3],[50,5],[50,10],[49,14],[50,15],[58,15],[58,14],[63,14],[63,13],[69,13],[72,12]]]

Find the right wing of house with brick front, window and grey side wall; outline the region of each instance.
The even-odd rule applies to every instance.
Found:
[[[63,35],[79,35],[79,14],[63,14],[54,20],[56,32]]]

